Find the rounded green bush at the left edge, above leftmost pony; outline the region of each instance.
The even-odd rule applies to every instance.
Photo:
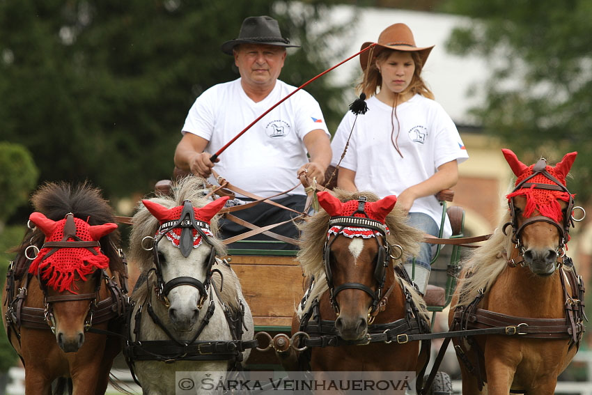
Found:
[[[1,224],[17,208],[29,201],[29,192],[35,187],[39,170],[29,150],[20,144],[0,141],[0,232]]]

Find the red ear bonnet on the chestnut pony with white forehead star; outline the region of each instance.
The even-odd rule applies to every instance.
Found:
[[[397,202],[397,197],[394,195],[386,196],[384,199],[380,199],[379,201],[374,202],[366,202],[364,204],[364,212],[357,212],[359,207],[359,201],[357,200],[350,200],[346,202],[341,202],[335,196],[330,194],[329,192],[318,192],[318,202],[320,206],[327,211],[331,217],[360,217],[360,218],[368,218],[374,219],[377,222],[380,222],[384,225],[384,219],[387,218],[387,215],[393,210],[395,203]],[[332,226],[327,231],[327,234],[338,234],[341,233],[348,238],[355,238],[359,236],[361,238],[372,238],[377,233],[377,231],[373,229],[363,228],[360,226],[345,226],[341,229],[341,226]],[[387,227],[387,233],[389,233],[389,228]]]

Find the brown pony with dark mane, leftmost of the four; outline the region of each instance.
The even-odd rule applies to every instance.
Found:
[[[26,394],[51,394],[56,379],[56,392],[68,385],[73,394],[104,394],[127,304],[113,211],[86,183],[47,183],[31,201],[31,229],[2,297]]]

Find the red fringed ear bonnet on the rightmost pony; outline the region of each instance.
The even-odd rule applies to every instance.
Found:
[[[533,173],[536,173],[535,166],[537,164],[532,164],[531,166],[527,166],[526,164],[520,162],[516,157],[516,154],[513,153],[511,150],[502,149],[502,153],[504,153],[504,157],[506,157],[506,161],[510,164],[512,171],[514,172],[515,176],[517,177],[515,185],[519,185],[522,181],[526,180]],[[566,186],[566,176],[569,173],[571,166],[575,160],[577,152],[568,153],[566,154],[561,162],[556,164],[554,167],[546,165],[545,171],[549,173],[551,176],[556,178],[563,186]],[[546,164],[544,162],[543,164]],[[542,167],[542,165],[540,165]],[[536,184],[549,184],[549,185],[556,185],[554,180],[547,178],[544,173],[538,173],[536,176],[529,178],[527,183],[536,183]],[[556,191],[550,189],[539,189],[536,188],[536,185],[531,185],[529,187],[521,187],[520,189],[516,189],[511,194],[508,194],[506,197],[508,199],[512,199],[514,196],[524,196],[527,199],[527,206],[524,208],[524,218],[530,217],[534,210],[538,210],[540,215],[544,217],[553,219],[555,222],[561,223],[563,221],[563,212],[561,212],[561,206],[559,205],[558,200],[562,201],[569,201],[570,194],[565,191]],[[573,195],[571,195],[573,197]]]

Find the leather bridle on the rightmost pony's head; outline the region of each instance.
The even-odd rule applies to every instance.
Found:
[[[563,256],[563,255],[565,255],[565,252],[563,251],[563,247],[565,247],[566,242],[568,240],[570,227],[574,226],[574,221],[579,222],[579,221],[582,221],[582,219],[584,219],[584,217],[582,217],[580,219],[575,219],[572,215],[573,210],[575,210],[576,208],[579,208],[580,210],[582,210],[582,212],[584,212],[584,216],[586,215],[584,208],[579,207],[579,206],[575,207],[575,202],[574,202],[572,194],[570,194],[569,190],[567,189],[567,187],[565,185],[563,185],[559,180],[557,180],[554,176],[552,176],[549,172],[547,172],[546,166],[547,166],[547,161],[545,159],[539,160],[533,166],[532,175],[527,178],[524,178],[524,180],[522,180],[520,183],[518,183],[516,185],[516,187],[513,189],[512,193],[516,192],[518,189],[523,189],[523,188],[546,189],[546,190],[550,190],[550,191],[566,192],[566,194],[568,194],[568,196],[569,196],[568,206],[566,208],[565,215],[563,215],[563,223],[561,223],[561,224],[559,222],[556,222],[552,218],[545,217],[543,215],[536,215],[534,217],[525,218],[524,222],[522,222],[522,224],[520,226],[518,226],[516,208],[514,206],[514,199],[508,199],[508,206],[510,208],[510,216],[511,216],[512,220],[511,220],[511,222],[507,222],[506,224],[504,224],[504,226],[502,227],[502,231],[504,232],[504,235],[507,235],[508,233],[506,233],[506,229],[508,228],[508,226],[512,226],[512,242],[514,243],[515,248],[519,251],[520,257],[523,259],[522,265],[524,265],[523,262],[524,262],[524,252],[525,252],[524,245],[522,244],[522,231],[524,231],[524,229],[527,226],[534,224],[536,222],[547,222],[547,224],[552,224],[553,226],[555,226],[557,228],[557,231],[559,231],[559,243],[556,247],[556,252],[557,252],[558,256]],[[555,184],[553,185],[553,184],[528,183],[527,182],[528,180],[531,180],[531,178],[533,178],[534,176],[537,176],[538,174],[545,176],[545,178],[547,178],[548,180],[551,180]]]

